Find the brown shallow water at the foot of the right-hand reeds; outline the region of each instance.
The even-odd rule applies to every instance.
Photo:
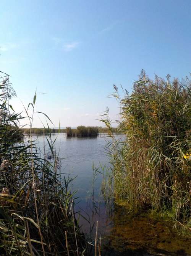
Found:
[[[179,224],[151,213],[129,213],[115,206],[108,237],[108,255],[191,255],[191,237],[183,235]],[[180,235],[181,234],[181,235]],[[106,254],[107,255],[107,254]]]

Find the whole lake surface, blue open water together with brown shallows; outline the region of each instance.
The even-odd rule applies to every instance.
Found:
[[[92,168],[93,164],[94,169],[99,168],[100,164],[109,167],[104,148],[110,138],[106,136],[100,134],[96,138],[67,138],[64,133],[52,134],[52,140],[57,137],[55,149],[59,152],[59,157],[63,158],[60,171],[70,174],[70,177],[77,176],[72,186],[76,197],[79,197],[76,211],[81,210],[91,227],[99,221],[99,234],[102,232],[102,236],[105,235],[102,243],[108,246],[104,255],[191,255],[191,239],[179,236],[173,228],[173,222],[156,220],[144,214],[132,217],[124,207],[106,207],[100,197],[102,175],[97,172],[94,177]],[[116,135],[116,138],[120,139],[121,136],[123,137]],[[34,139],[37,137],[42,149],[43,135],[33,135]],[[45,145],[45,150],[50,152],[48,144]],[[84,218],[80,218],[80,222],[83,230],[89,233],[89,223]]]

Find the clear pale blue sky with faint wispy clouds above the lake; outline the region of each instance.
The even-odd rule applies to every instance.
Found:
[[[1,0],[0,71],[16,90],[13,108],[25,116],[37,89],[35,111],[51,127],[103,126],[106,107],[115,126],[113,84],[131,92],[141,69],[191,72],[190,12],[190,0]],[[34,114],[33,127],[45,122]]]

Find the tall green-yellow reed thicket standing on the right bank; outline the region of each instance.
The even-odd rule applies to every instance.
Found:
[[[125,142],[113,143],[114,197],[138,208],[168,211],[176,220],[191,216],[191,81],[155,77],[144,71],[129,95],[120,97],[120,131]],[[110,128],[108,113],[102,121]]]

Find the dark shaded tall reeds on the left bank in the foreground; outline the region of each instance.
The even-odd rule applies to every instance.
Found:
[[[60,177],[55,140],[44,137],[47,159],[31,135],[37,94],[25,108],[30,136],[23,140],[23,117],[9,104],[15,92],[0,74],[0,255],[89,255],[73,210],[72,178]]]

